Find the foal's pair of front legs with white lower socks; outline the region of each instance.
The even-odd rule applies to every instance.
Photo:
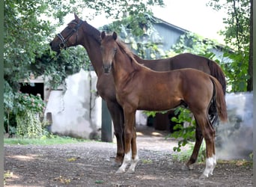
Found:
[[[118,169],[117,173],[124,173],[131,159],[132,165],[129,168],[129,172],[134,172],[135,166],[138,162],[137,147],[135,144],[136,140],[134,137],[135,110],[133,110],[132,108],[124,108],[124,122],[124,162]]]

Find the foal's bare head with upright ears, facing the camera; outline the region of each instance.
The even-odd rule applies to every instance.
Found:
[[[103,70],[109,73],[112,70],[112,63],[117,52],[118,46],[115,40],[118,39],[118,34],[113,32],[112,35],[106,35],[105,31],[100,34],[101,37],[101,55],[103,56]]]

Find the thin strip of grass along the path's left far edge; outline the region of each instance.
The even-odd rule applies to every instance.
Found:
[[[88,140],[61,137],[58,135],[43,136],[41,138],[4,138],[4,144],[19,145],[52,145],[52,144],[74,144]]]

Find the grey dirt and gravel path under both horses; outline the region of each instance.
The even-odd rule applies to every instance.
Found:
[[[182,171],[165,133],[141,130],[137,142],[135,174],[115,174],[115,143],[4,145],[5,186],[252,186],[252,165],[219,162],[212,177],[199,180],[204,164]]]

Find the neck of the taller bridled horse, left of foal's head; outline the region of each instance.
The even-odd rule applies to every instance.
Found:
[[[97,31],[96,28],[95,28],[95,31]],[[100,31],[98,32],[100,37]],[[85,47],[85,50],[88,53],[88,56],[91,60],[91,64],[93,65],[97,76],[100,76],[103,73],[102,71],[103,61],[102,61],[101,52],[100,52],[100,42],[97,41],[96,38],[94,38],[94,34],[86,33],[85,31],[84,31],[83,39],[84,40],[82,40],[81,45]]]

